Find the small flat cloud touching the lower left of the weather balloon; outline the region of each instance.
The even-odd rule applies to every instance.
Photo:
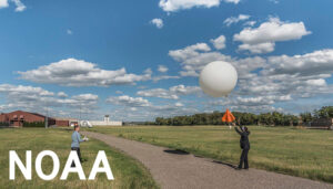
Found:
[[[164,88],[152,88],[137,92],[139,96],[145,97],[160,97],[169,99],[179,99],[181,95],[190,95],[201,92],[199,86],[185,86],[185,85],[175,85],[171,86],[169,90]]]

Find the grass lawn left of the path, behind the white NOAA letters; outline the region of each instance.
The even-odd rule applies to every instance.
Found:
[[[149,171],[137,160],[128,157],[105,144],[91,139],[81,145],[82,164],[85,177],[99,150],[104,150],[114,180],[108,180],[105,174],[98,174],[95,180],[83,180],[77,174],[69,174],[68,180],[60,180],[61,172],[70,153],[72,130],[44,128],[4,128],[0,129],[0,188],[158,188]],[[9,180],[9,150],[16,150],[26,164],[26,150],[32,150],[32,180],[26,180],[17,168],[16,180]],[[60,159],[60,171],[56,179],[43,181],[37,176],[34,160],[42,150],[54,151]],[[52,170],[50,157],[43,158],[44,174]]]

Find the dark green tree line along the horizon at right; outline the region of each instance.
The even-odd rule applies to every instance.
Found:
[[[228,123],[222,122],[222,116],[224,113],[213,112],[213,113],[202,113],[185,116],[175,117],[157,117],[155,122],[150,122],[145,124],[153,125],[225,125]],[[235,117],[235,122],[241,125],[269,125],[269,126],[297,126],[301,122],[310,123],[316,118],[329,118],[333,117],[333,106],[324,106],[320,109],[314,109],[311,112],[301,113],[299,116],[291,114],[283,114],[280,112],[272,113],[242,113],[232,112]]]

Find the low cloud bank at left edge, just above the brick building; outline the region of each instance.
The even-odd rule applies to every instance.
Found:
[[[0,94],[4,95],[6,105],[1,105],[1,111],[24,109],[46,114],[47,111],[67,107],[69,112],[81,111],[91,112],[98,103],[98,95],[80,94],[68,97],[63,92],[54,95],[53,92],[41,87],[1,84]],[[68,98],[64,98],[68,97]]]

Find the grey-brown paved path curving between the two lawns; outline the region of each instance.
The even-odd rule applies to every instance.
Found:
[[[333,185],[264,170],[251,168],[250,170],[234,170],[212,159],[110,135],[89,132],[82,132],[82,134],[102,140],[140,160],[162,188],[333,189]]]

